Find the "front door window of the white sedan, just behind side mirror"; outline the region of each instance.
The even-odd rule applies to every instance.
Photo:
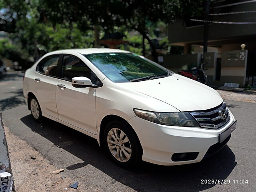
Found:
[[[73,77],[80,76],[91,79],[90,68],[74,56],[64,56],[62,64],[62,78],[72,80]]]

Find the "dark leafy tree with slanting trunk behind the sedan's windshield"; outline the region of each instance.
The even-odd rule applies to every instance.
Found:
[[[150,30],[158,22],[186,20],[200,14],[201,4],[202,0],[123,0],[111,4],[109,10],[110,14],[119,18],[121,24],[137,30],[148,41],[154,61],[157,61],[156,48],[150,40]]]

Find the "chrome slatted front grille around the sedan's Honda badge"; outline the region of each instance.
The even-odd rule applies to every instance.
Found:
[[[220,115],[223,110],[226,114],[225,118]],[[230,114],[224,102],[215,108],[190,112],[190,114],[197,120],[200,127],[203,128],[218,129],[230,120]]]

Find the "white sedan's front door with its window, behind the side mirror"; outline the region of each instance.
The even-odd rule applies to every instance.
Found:
[[[73,87],[71,80],[78,76],[91,79],[90,68],[76,56],[63,55],[61,78],[56,88],[59,119],[96,134],[95,88]]]

